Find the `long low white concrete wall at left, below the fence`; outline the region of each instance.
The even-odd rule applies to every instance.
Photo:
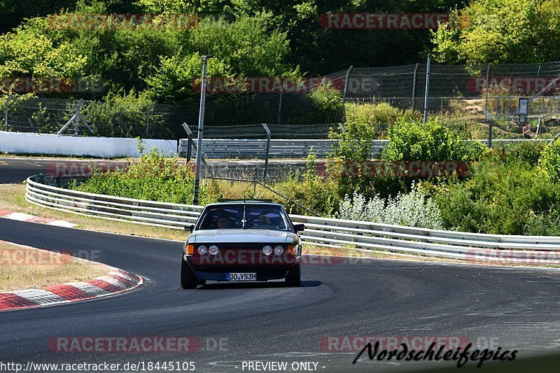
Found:
[[[144,148],[175,155],[177,141],[142,139]],[[90,155],[92,157],[139,157],[137,139],[121,137],[73,137],[57,134],[25,134],[0,131],[0,153]]]

